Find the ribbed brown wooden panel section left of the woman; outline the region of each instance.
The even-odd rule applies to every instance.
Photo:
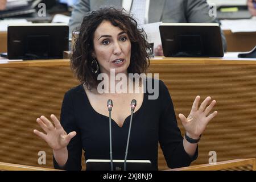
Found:
[[[33,133],[42,131],[36,118],[59,118],[65,91],[77,84],[69,67],[1,68],[1,162],[52,167],[51,149]],[[38,164],[39,151],[46,152],[46,165]]]

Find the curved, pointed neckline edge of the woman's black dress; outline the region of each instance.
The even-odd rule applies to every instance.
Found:
[[[109,116],[104,115],[104,114],[101,114],[101,113],[98,113],[98,112],[93,108],[93,106],[92,106],[92,104],[90,104],[89,98],[88,98],[88,96],[87,96],[87,94],[86,94],[86,92],[85,92],[84,86],[83,86],[82,84],[81,84],[80,86],[81,86],[82,91],[83,91],[82,93],[85,94],[86,101],[88,102],[88,105],[90,106],[90,109],[93,111],[93,113],[96,113],[96,114],[98,114],[98,115],[101,115],[101,117],[105,117],[105,118],[108,118],[108,119],[109,119]],[[144,106],[145,99],[146,99],[146,93],[143,93],[143,101],[142,101],[141,107],[139,107],[139,109],[133,113],[133,117],[134,117],[134,115],[137,115],[139,111],[142,110],[142,107]],[[129,109],[129,108],[127,108],[127,109]],[[111,120],[112,120],[112,122],[114,122],[114,124],[115,124],[119,129],[122,129],[123,126],[124,126],[125,123],[126,123],[126,120],[127,120],[128,118],[130,118],[130,117],[131,117],[131,114],[128,115],[128,116],[125,118],[125,120],[123,121],[123,125],[122,125],[122,126],[119,126],[119,125],[117,124],[117,122],[114,121],[113,118],[111,118]]]

